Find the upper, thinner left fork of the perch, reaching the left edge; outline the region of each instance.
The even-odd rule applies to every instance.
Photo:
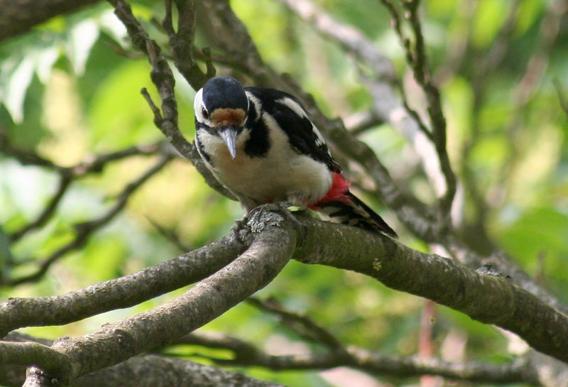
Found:
[[[0,335],[21,327],[64,325],[131,307],[182,288],[226,266],[245,247],[231,234],[177,258],[64,295],[10,298],[0,304]]]

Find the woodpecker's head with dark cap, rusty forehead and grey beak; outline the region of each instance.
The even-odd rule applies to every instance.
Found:
[[[231,77],[212,78],[195,94],[194,109],[195,119],[222,138],[235,158],[236,138],[243,131],[249,112],[243,85]]]

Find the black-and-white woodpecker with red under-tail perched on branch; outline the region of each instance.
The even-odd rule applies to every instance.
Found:
[[[197,92],[194,108],[197,150],[245,215],[258,205],[288,201],[332,222],[396,237],[349,192],[322,135],[292,95],[215,77]]]

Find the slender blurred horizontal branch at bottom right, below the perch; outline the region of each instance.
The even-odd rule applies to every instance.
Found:
[[[333,351],[325,354],[289,354],[274,356],[244,340],[214,332],[193,332],[182,337],[175,344],[199,345],[202,347],[227,349],[234,356],[232,359],[221,359],[216,356],[192,352],[192,356],[214,361],[224,366],[261,366],[273,370],[293,369],[332,369],[338,366],[349,366],[364,372],[388,376],[422,376],[439,375],[462,381],[486,383],[525,382],[539,384],[537,372],[525,359],[517,359],[506,364],[484,364],[477,362],[450,363],[442,359],[418,356],[388,356],[367,351],[359,347],[349,346],[349,358],[336,356]],[[167,349],[161,352],[169,356],[173,354]],[[183,356],[187,356],[185,353]]]

